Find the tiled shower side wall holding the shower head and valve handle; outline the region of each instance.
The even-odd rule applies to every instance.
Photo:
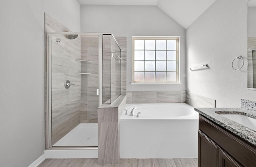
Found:
[[[46,32],[67,32],[68,28],[45,15]],[[55,39],[60,43],[56,44]],[[70,40],[66,35],[52,35],[52,144],[65,136],[80,123],[81,79],[80,37]],[[69,80],[75,85],[69,89],[64,81]]]

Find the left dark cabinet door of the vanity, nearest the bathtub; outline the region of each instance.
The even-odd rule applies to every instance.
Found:
[[[218,167],[219,147],[198,130],[198,167]]]

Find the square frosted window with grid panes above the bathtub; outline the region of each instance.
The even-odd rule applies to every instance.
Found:
[[[132,37],[133,83],[178,83],[179,37]]]

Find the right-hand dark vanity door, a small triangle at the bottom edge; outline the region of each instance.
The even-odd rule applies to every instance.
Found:
[[[242,167],[230,155],[220,149],[220,167]]]

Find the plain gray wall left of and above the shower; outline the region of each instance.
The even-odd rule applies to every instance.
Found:
[[[1,1],[3,167],[27,167],[44,153],[44,12],[72,31],[80,31],[76,0]]]

